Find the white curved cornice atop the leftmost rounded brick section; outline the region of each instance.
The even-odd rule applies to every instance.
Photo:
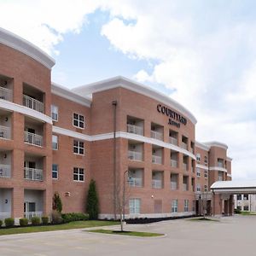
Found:
[[[36,45],[31,44],[2,27],[0,27],[0,43],[32,57],[32,59],[40,62],[49,69],[55,65],[55,60],[47,55],[42,49],[39,49]]]

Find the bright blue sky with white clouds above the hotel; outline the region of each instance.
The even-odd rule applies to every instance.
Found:
[[[256,2],[0,0],[0,26],[55,61],[68,88],[122,75],[192,112],[196,140],[229,146],[234,180],[256,179]]]

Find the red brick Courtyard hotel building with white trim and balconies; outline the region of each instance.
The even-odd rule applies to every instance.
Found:
[[[196,142],[188,109],[123,77],[68,90],[54,65],[0,29],[0,218],[50,215],[55,192],[63,212],[84,212],[91,178],[100,218],[124,185],[126,218],[232,212],[232,196],[210,192],[231,179],[228,147]]]

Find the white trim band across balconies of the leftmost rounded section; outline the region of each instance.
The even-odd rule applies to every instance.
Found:
[[[45,123],[49,123],[50,125],[52,125],[52,119],[48,115],[44,113],[40,113],[36,110],[33,110],[32,108],[26,108],[25,106],[15,104],[14,102],[0,100],[0,108],[8,109],[12,112],[23,113],[26,116],[31,117],[32,119],[38,119],[40,121],[43,121]]]

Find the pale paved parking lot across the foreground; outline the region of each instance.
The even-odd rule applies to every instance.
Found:
[[[106,229],[116,227],[106,227]],[[219,218],[218,222],[178,219],[126,225],[126,230],[164,233],[131,237],[62,230],[0,236],[0,255],[250,255],[255,254],[256,216]]]

